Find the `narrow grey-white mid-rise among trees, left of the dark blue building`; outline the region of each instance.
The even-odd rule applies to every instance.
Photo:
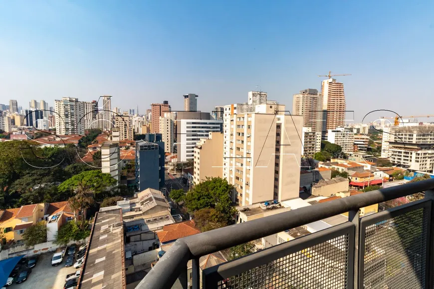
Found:
[[[112,142],[104,142],[101,146],[101,172],[109,173],[118,186],[121,182],[121,159],[119,145]]]

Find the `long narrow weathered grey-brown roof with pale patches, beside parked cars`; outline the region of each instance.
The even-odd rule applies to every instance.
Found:
[[[125,289],[122,210],[96,213],[79,289]]]

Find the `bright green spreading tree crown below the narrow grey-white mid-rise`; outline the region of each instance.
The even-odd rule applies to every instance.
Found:
[[[116,179],[114,179],[109,173],[102,173],[100,170],[87,170],[62,182],[59,185],[58,190],[59,192],[72,191],[79,183],[82,183],[87,186],[89,190],[98,194],[107,191],[110,187],[114,186],[116,184]]]

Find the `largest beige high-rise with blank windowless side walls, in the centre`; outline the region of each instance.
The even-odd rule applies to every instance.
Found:
[[[224,106],[223,177],[235,186],[232,197],[239,205],[299,195],[303,118],[284,110],[265,92]]]

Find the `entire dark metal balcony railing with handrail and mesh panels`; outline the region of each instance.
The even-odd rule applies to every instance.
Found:
[[[418,192],[425,198],[359,216],[360,208]],[[182,238],[137,288],[433,289],[433,201],[434,179],[429,179]],[[202,256],[345,212],[346,223],[200,272]]]

